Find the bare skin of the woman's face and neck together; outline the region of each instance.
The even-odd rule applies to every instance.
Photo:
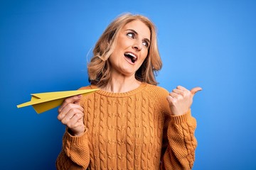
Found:
[[[105,86],[100,87],[102,90],[123,93],[136,89],[141,84],[135,79],[135,73],[148,55],[150,37],[149,28],[139,20],[127,23],[120,30],[117,45],[109,58],[112,79]],[[136,62],[132,63],[124,57],[125,52],[136,55]]]

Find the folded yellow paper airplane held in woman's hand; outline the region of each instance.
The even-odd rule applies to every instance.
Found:
[[[41,94],[31,94],[31,101],[26,103],[22,103],[18,105],[18,108],[22,108],[25,106],[33,106],[36,113],[43,113],[52,108],[60,106],[61,103],[70,96],[76,96],[79,94],[87,95],[94,91],[100,89],[86,89],[86,90],[77,90],[77,91],[57,91],[57,92],[49,92],[49,93],[41,93]]]

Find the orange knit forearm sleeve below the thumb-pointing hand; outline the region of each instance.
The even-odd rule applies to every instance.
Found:
[[[191,111],[166,116],[164,123],[161,169],[192,169],[197,146],[196,119]]]

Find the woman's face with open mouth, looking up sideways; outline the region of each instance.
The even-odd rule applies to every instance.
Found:
[[[150,37],[150,30],[142,21],[136,20],[124,25],[109,58],[112,74],[134,76],[148,55]]]

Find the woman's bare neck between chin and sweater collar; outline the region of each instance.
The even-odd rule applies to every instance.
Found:
[[[112,79],[102,86],[102,90],[112,93],[125,93],[137,89],[142,82],[135,77],[112,77]]]

